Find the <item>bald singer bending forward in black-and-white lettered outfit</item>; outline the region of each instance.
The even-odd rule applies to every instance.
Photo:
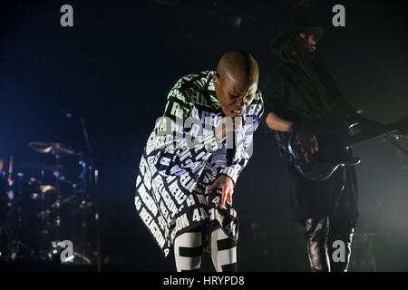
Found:
[[[143,150],[135,207],[179,272],[199,270],[204,251],[216,271],[237,271],[232,196],[263,113],[257,82],[257,62],[241,51],[223,54],[216,72],[182,77]]]

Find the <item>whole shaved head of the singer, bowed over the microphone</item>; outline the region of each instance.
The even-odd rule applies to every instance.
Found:
[[[242,116],[257,92],[257,61],[243,51],[222,55],[213,75],[214,88],[226,116]]]

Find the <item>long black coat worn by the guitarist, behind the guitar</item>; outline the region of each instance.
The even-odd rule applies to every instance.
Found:
[[[264,116],[273,111],[297,123],[345,126],[355,113],[325,66],[316,65],[316,72],[325,87],[325,96],[317,95],[318,92],[299,65],[289,62],[277,64],[261,86],[265,102]],[[277,132],[278,143],[286,142],[287,137],[287,133]],[[294,218],[302,220],[336,216],[346,222],[356,223],[357,184],[354,168],[337,169],[325,181],[311,181],[301,177],[290,162],[287,162],[287,172]]]

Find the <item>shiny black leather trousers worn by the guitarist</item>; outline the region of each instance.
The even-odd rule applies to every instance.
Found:
[[[345,272],[351,255],[351,243],[354,233],[352,225],[329,221],[331,218],[307,218],[306,248],[312,272]],[[342,259],[334,259],[335,241],[342,241],[345,253]]]

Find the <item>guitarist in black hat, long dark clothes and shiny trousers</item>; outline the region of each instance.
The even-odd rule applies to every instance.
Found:
[[[310,156],[319,150],[317,132],[334,132],[355,121],[371,122],[353,111],[316,54],[322,35],[321,27],[296,20],[273,39],[280,63],[264,80],[264,115],[288,160],[291,204],[294,218],[306,227],[311,271],[347,271],[358,217],[355,169],[342,167],[325,181],[312,181],[296,172],[287,152],[287,138],[294,131]],[[340,261],[333,258],[337,240],[345,245],[345,258],[338,256]]]

